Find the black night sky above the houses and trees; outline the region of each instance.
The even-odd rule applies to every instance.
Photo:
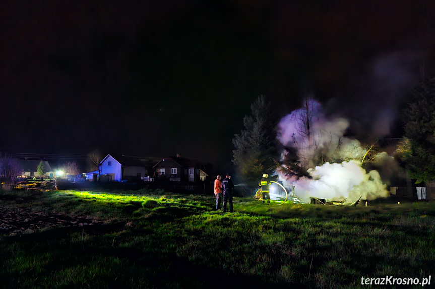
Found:
[[[395,0],[4,1],[0,150],[219,167],[256,97],[284,116],[304,87],[363,130],[397,116],[420,67],[431,72],[433,12]]]

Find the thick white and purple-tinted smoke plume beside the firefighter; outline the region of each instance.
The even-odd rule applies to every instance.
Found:
[[[310,197],[328,200],[386,197],[386,185],[376,170],[362,168],[366,150],[358,140],[343,136],[349,122],[328,118],[322,106],[314,101],[293,111],[279,122],[279,141],[296,151],[301,166],[311,178],[285,176],[279,173],[284,186],[295,187],[295,194],[304,202]]]

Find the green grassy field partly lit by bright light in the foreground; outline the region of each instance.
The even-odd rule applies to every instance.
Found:
[[[104,220],[0,235],[5,288],[362,288],[363,276],[428,278],[435,269],[433,203],[235,198],[235,213],[223,214],[214,196],[163,191],[0,197],[3,208]]]

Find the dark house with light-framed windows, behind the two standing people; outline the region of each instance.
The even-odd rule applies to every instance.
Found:
[[[180,155],[163,158],[155,166],[155,179],[160,181],[200,181],[200,163]]]

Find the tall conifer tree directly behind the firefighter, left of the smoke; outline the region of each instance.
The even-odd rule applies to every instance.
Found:
[[[276,125],[271,103],[261,95],[251,105],[252,115],[245,116],[245,129],[233,138],[235,147],[233,163],[241,178],[250,184],[258,183],[263,173],[270,174],[275,168],[277,153]]]

